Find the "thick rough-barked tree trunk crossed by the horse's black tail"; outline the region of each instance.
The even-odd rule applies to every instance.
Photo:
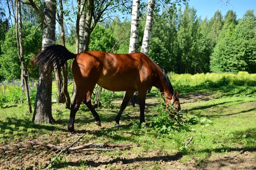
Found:
[[[42,49],[55,44],[56,0],[45,0]],[[38,124],[55,123],[52,117],[52,68],[39,67],[38,88],[32,121]]]

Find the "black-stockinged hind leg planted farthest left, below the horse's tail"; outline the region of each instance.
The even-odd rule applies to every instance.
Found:
[[[84,99],[85,94],[86,94],[86,91],[78,90],[76,93],[75,99],[74,99],[73,103],[71,104],[70,120],[69,120],[68,127],[67,127],[67,130],[71,132],[71,136],[76,134],[76,132],[74,130],[76,112],[79,110],[79,107],[81,105],[81,102]]]

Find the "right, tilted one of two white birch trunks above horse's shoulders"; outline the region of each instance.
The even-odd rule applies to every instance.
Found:
[[[148,0],[147,19],[146,19],[143,41],[142,41],[141,50],[140,50],[140,52],[146,55],[148,54],[150,35],[153,27],[154,6],[155,6],[155,0]]]

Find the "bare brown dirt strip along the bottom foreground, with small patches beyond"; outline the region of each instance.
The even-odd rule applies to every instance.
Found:
[[[184,104],[196,100],[209,100],[215,96],[208,93],[195,93],[186,97],[181,96],[180,101]],[[121,101],[118,101],[121,102]],[[117,103],[118,103],[117,102]],[[147,99],[147,103],[154,104],[157,101]],[[67,138],[68,136],[63,136]],[[79,138],[79,136],[76,136]],[[51,139],[48,139],[49,141]],[[54,140],[54,139],[52,139]],[[65,147],[66,144],[61,144]],[[10,144],[11,146],[12,144]],[[139,147],[139,146],[133,146]],[[127,154],[128,153],[128,154]],[[32,149],[22,149],[19,152],[7,151],[0,154],[0,169],[43,169],[49,164],[50,157],[54,156],[52,150],[37,146]],[[227,153],[208,155],[206,160],[199,160],[194,157],[192,160],[182,163],[181,153],[174,155],[162,153],[160,150],[146,151],[142,154],[136,152],[113,151],[112,153],[81,152],[66,154],[58,163],[57,168],[62,169],[92,169],[92,170],[253,170],[256,169],[256,153],[252,150],[230,149]]]

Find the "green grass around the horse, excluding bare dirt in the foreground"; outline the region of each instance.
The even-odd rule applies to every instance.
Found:
[[[244,76],[244,74],[242,75]],[[246,76],[248,75],[246,74]],[[229,151],[239,151],[243,148],[255,152],[256,86],[248,85],[247,82],[255,81],[255,75],[249,75],[249,78],[239,78],[239,74],[222,74],[222,77],[218,74],[201,74],[201,77],[200,75],[180,75],[179,79],[178,75],[170,74],[169,77],[172,79],[175,89],[177,87],[180,95],[183,96],[180,99],[181,102],[186,99],[186,96],[195,92],[207,93],[208,97],[212,96],[212,98],[183,102],[181,105],[184,115],[183,125],[179,127],[174,123],[172,130],[168,133],[160,133],[154,127],[142,128],[139,123],[138,107],[127,107],[121,117],[121,126],[115,128],[114,119],[119,111],[119,104],[114,104],[113,109],[100,108],[96,110],[102,120],[102,127],[97,127],[92,114],[83,104],[76,114],[75,122],[77,133],[86,133],[81,142],[140,145],[140,147],[133,147],[133,149],[122,153],[99,153],[111,158],[135,153],[145,155],[160,152],[164,155],[180,156],[178,160],[181,163],[196,157],[198,164],[207,161],[209,154],[227,154]],[[186,77],[185,80],[184,77]],[[232,79],[227,78],[227,80],[223,77]],[[254,77],[254,80],[251,77]],[[239,85],[234,83],[237,79],[241,79],[244,83]],[[205,83],[209,80],[210,83]],[[219,83],[218,87],[213,85],[216,82]],[[72,89],[72,87],[69,88]],[[69,91],[71,91],[70,89]],[[148,94],[148,98],[155,98],[153,94],[156,93],[157,89],[153,88],[152,94]],[[122,96],[123,93],[118,92],[112,100],[122,99]],[[155,107],[157,106],[146,104],[146,108],[152,109],[145,113],[148,122],[157,117],[157,113],[154,111]],[[57,124],[35,125],[31,122],[32,114],[26,113],[25,104],[15,106],[6,104],[4,108],[0,108],[0,145],[26,142],[31,139],[51,141],[52,144],[72,143],[74,139],[68,136],[69,133],[66,130],[70,111],[63,108],[63,105],[52,104],[52,114]],[[194,136],[192,142],[184,145],[191,136]],[[56,164],[55,167],[63,167],[64,164]],[[80,166],[85,168],[88,167],[88,164],[87,161],[83,161]],[[147,169],[148,166],[144,165],[141,168]],[[150,166],[155,169],[160,168],[158,162],[152,162]]]

